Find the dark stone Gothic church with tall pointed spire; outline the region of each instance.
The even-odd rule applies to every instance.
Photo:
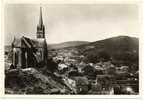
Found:
[[[45,26],[40,7],[36,39],[25,36],[14,38],[12,42],[12,65],[14,68],[42,67],[47,64],[48,49],[45,39]]]

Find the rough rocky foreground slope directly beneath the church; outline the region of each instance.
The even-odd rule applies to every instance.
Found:
[[[11,69],[5,73],[6,94],[69,94],[70,88],[52,73],[35,68]]]

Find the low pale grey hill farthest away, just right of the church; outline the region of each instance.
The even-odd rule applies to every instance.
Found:
[[[87,41],[69,41],[69,42],[63,42],[59,44],[48,44],[49,49],[61,49],[61,48],[67,48],[67,47],[76,47],[80,45],[85,45],[90,42]]]

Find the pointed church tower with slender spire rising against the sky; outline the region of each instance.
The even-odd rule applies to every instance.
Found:
[[[45,38],[45,26],[42,18],[42,7],[40,7],[39,24],[37,25],[37,38]]]

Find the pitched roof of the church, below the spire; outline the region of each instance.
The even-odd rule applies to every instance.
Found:
[[[15,38],[12,42],[13,47],[20,47],[20,48],[43,48],[45,47],[46,40],[45,39],[30,39],[27,37]]]

